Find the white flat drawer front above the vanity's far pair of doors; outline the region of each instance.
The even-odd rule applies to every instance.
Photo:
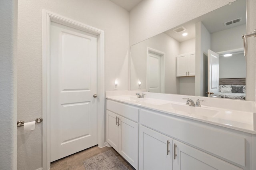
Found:
[[[137,107],[132,107],[130,105],[122,104],[116,101],[107,100],[107,109],[118,115],[131,119],[138,122],[138,112]]]

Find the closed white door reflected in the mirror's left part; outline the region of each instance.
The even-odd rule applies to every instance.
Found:
[[[147,67],[148,92],[161,93],[161,55],[149,52]]]

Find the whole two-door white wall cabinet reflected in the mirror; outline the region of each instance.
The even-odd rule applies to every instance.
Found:
[[[195,52],[180,54],[176,57],[176,76],[196,75],[196,54]]]

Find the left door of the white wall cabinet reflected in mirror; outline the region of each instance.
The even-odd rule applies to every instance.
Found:
[[[176,57],[176,76],[182,77],[187,76],[187,65],[188,60],[186,54],[178,55]]]

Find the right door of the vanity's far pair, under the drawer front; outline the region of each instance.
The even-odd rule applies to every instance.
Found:
[[[138,169],[138,123],[120,117],[119,154]]]

